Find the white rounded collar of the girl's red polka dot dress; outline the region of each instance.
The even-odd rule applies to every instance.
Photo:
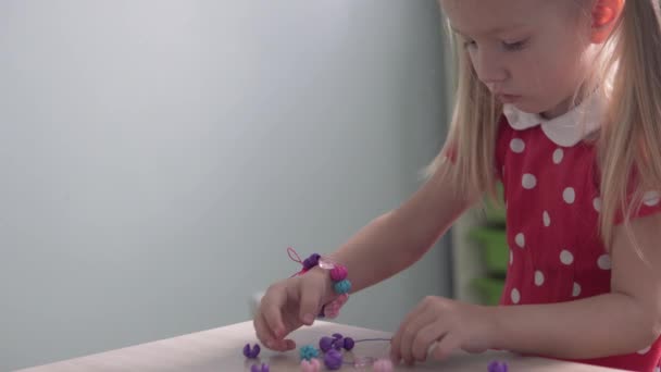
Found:
[[[551,120],[539,114],[523,112],[513,104],[504,104],[502,113],[516,131],[540,125],[541,131],[556,145],[572,147],[598,129],[606,119],[606,99],[595,94],[566,113]]]

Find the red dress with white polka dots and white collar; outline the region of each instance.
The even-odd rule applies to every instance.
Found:
[[[496,160],[510,262],[501,305],[563,302],[610,292],[611,260],[598,234],[595,147],[583,140],[599,127],[602,108],[603,100],[593,97],[551,121],[503,108]],[[646,194],[644,201],[637,216],[661,211],[658,193]],[[657,340],[632,355],[579,362],[660,372],[660,357]]]

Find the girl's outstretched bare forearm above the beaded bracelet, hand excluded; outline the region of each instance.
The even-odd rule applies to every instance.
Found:
[[[345,264],[351,292],[384,281],[417,261],[471,204],[451,183],[446,161],[409,200],[360,230],[333,259]],[[473,198],[476,199],[476,198]]]

